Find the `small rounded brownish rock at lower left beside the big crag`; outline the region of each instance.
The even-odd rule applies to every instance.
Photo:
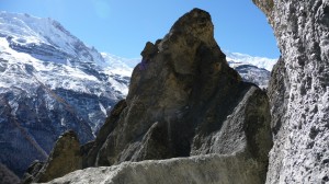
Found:
[[[69,130],[61,135],[45,163],[35,162],[24,174],[23,183],[48,182],[82,169],[82,157],[77,135]]]

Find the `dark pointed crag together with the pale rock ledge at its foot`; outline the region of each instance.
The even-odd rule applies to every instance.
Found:
[[[50,183],[264,183],[268,96],[228,66],[209,14],[186,13],[141,56],[126,100],[82,146],[83,168],[117,165]]]

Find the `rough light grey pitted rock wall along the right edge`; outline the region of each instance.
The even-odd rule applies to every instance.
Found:
[[[253,2],[282,53],[269,87],[274,146],[266,183],[329,182],[329,1]]]

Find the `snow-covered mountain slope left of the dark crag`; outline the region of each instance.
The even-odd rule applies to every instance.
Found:
[[[131,72],[52,19],[1,12],[0,162],[22,174],[67,129],[92,140]]]

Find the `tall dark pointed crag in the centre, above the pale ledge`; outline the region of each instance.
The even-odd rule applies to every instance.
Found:
[[[254,157],[266,156],[266,95],[229,68],[213,31],[209,14],[194,9],[163,39],[146,44],[132,76],[127,106],[107,129],[106,140],[97,139],[88,166],[230,154],[245,151],[247,145]]]

